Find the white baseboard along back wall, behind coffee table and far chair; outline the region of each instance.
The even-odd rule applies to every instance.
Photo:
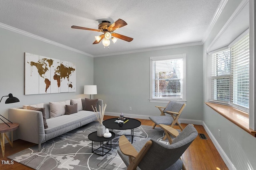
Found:
[[[108,116],[120,116],[120,113],[115,112],[105,112],[105,115]],[[149,120],[149,115],[135,115],[124,113],[124,117],[137,118],[137,119],[146,119]],[[193,120],[193,119],[179,119],[181,123],[202,125],[202,120]]]

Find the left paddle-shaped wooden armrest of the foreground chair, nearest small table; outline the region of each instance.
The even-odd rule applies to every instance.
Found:
[[[119,148],[124,155],[132,156],[133,158],[136,158],[138,155],[137,150],[124,135],[122,135],[119,139]]]

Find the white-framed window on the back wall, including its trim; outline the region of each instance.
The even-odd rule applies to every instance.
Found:
[[[150,57],[150,99],[186,100],[186,54]]]

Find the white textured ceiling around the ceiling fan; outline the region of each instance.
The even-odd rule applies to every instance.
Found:
[[[94,56],[201,42],[220,0],[0,0],[0,22]],[[92,45],[104,19],[128,25],[114,31],[110,49]]]

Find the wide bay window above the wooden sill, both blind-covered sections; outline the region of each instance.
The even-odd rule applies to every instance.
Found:
[[[249,109],[249,33],[212,54],[211,100]]]

